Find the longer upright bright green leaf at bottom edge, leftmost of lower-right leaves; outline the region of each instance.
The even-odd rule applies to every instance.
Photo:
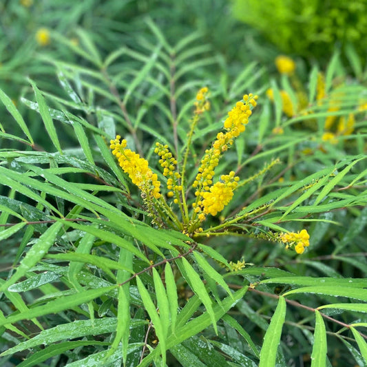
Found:
[[[282,327],[286,316],[286,300],[280,296],[277,303],[277,308],[268,330],[264,336],[264,343],[262,344],[260,352],[259,367],[274,367],[277,357],[277,348],[280,344],[280,336],[282,335]]]

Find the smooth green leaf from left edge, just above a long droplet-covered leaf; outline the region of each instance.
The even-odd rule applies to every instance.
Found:
[[[23,319],[32,319],[33,317],[39,317],[43,315],[48,315],[50,313],[59,313],[60,311],[69,310],[74,306],[89,302],[94,300],[101,295],[112,291],[116,286],[104,286],[100,289],[90,289],[88,291],[78,293],[78,297],[75,295],[66,295],[59,297],[56,300],[52,300],[43,304],[42,306],[31,308],[23,313],[18,313],[17,315],[10,315],[5,321],[0,321],[0,326],[5,324],[12,324]]]

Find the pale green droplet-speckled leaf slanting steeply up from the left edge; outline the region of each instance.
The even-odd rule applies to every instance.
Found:
[[[54,240],[59,233],[62,223],[54,223],[50,228],[41,235],[39,240],[31,247],[25,258],[21,260],[21,264],[18,266],[17,271],[14,275],[10,277],[1,287],[0,290],[3,291],[9,286],[17,282],[21,277],[25,275],[43,256],[48,252],[50,247],[54,244]],[[32,317],[31,317],[32,318]]]

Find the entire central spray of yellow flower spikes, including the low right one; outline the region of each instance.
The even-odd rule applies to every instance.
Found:
[[[208,96],[207,87],[201,88],[196,95],[195,109],[182,164],[178,166],[178,161],[169,151],[168,145],[156,143],[154,153],[159,156],[162,175],[167,178],[165,189],[162,189],[163,185],[158,180],[158,175],[149,168],[148,161],[127,148],[127,140],[121,140],[121,136],[118,135],[110,142],[112,154],[118,159],[120,167],[134,185],[140,189],[143,205],[153,224],[158,228],[182,231],[193,238],[199,235],[213,235],[218,231],[230,233],[228,229],[244,219],[244,216],[236,216],[231,220],[223,220],[216,227],[208,229],[204,227],[207,216],[216,216],[220,213],[233,198],[235,189],[249,182],[249,180],[240,182],[240,177],[235,175],[235,171],[222,174],[216,180],[216,167],[218,167],[220,158],[231,148],[235,139],[244,133],[258,100],[257,95],[245,94],[243,100],[238,101],[228,112],[223,123],[223,130],[217,134],[211,147],[205,151],[193,182],[188,182],[186,170],[189,151],[196,125],[198,125],[202,114],[210,109]],[[272,164],[269,165],[268,169],[270,167]],[[287,248],[291,247],[297,253],[302,253],[304,247],[308,246],[309,236],[306,229],[303,229],[300,233],[269,232],[266,238],[284,242]]]

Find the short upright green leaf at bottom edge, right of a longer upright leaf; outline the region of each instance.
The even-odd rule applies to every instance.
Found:
[[[326,342],[326,328],[324,319],[319,311],[315,311],[315,333],[311,355],[311,367],[325,367],[328,344]]]

